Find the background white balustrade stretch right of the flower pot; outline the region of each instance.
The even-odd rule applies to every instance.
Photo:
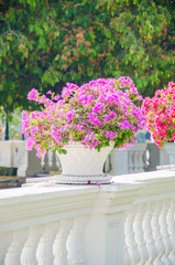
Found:
[[[112,176],[154,171],[157,166],[175,163],[175,145],[158,148],[154,142],[134,144],[124,150],[113,149],[105,170]]]

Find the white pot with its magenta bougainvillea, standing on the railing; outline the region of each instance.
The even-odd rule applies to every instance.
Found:
[[[57,151],[63,172],[59,183],[109,183],[102,172],[112,148],[125,148],[145,127],[142,96],[129,77],[99,78],[77,86],[67,83],[62,95],[51,91],[29,93],[43,105],[40,112],[23,112],[22,132],[26,149],[37,156]]]

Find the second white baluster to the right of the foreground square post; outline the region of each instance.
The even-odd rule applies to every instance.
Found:
[[[154,239],[153,239],[153,227],[152,227],[152,216],[154,213],[155,206],[154,204],[151,202],[146,203],[146,209],[145,209],[145,215],[144,215],[144,220],[143,220],[143,236],[144,240],[146,242],[146,248],[149,252],[149,259],[146,261],[146,263],[144,265],[153,265],[154,258],[157,255],[157,248],[154,244]]]

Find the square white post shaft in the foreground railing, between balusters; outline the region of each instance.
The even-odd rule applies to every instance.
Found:
[[[86,265],[124,265],[124,212],[92,214],[85,234]]]

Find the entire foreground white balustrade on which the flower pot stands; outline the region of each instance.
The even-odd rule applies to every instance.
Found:
[[[175,171],[0,192],[0,265],[175,264]]]

